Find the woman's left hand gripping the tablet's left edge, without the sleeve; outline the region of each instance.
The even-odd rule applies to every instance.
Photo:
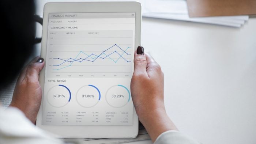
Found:
[[[21,71],[10,104],[23,111],[34,124],[42,99],[42,88],[38,79],[44,64],[43,58],[36,57]]]

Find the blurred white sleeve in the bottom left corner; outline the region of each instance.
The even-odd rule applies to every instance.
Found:
[[[63,144],[26,118],[17,108],[0,107],[0,143],[1,144]]]

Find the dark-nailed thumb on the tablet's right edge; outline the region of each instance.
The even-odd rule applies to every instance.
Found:
[[[144,48],[142,46],[138,46],[134,54],[134,73],[147,75],[146,69],[147,60],[146,55],[144,54]]]

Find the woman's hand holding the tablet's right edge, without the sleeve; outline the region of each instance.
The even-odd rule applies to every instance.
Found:
[[[164,76],[161,67],[139,46],[134,55],[131,81],[132,101],[140,122],[152,141],[167,130],[177,130],[167,116],[164,105]]]

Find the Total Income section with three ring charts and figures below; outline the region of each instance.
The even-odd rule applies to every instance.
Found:
[[[129,82],[117,78],[48,79],[45,125],[131,125]],[[118,83],[118,84],[117,84]]]

